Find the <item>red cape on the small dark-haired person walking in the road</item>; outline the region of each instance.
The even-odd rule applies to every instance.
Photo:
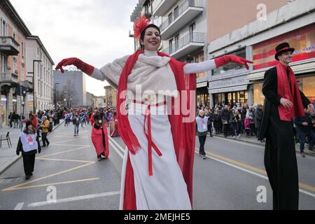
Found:
[[[109,134],[107,134],[107,128],[106,125],[103,125],[103,129],[104,129],[104,135],[105,135],[105,148],[103,146],[103,137],[102,137],[102,130],[99,129],[97,130],[94,127],[94,124],[92,124],[92,143],[95,147],[95,150],[97,152],[97,156],[101,155],[102,153],[104,153],[105,157],[109,157]]]

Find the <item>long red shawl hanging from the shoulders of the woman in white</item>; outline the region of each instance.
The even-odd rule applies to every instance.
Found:
[[[134,64],[137,62],[139,55],[143,53],[142,50],[138,50],[131,55],[123,68],[118,83],[118,131],[120,137],[122,137],[124,143],[129,149],[130,153],[136,154],[140,150],[140,144],[137,137],[132,132],[129,120],[125,114],[126,99],[122,95],[124,90],[127,90],[127,79],[131,73]],[[169,57],[162,52],[158,52],[158,55],[162,57]],[[184,76],[183,66],[185,63],[179,62],[171,57],[169,62],[172,71],[176,79],[177,90],[181,93],[182,91],[188,92],[188,101],[186,108],[193,113],[195,118],[195,98],[190,99],[189,91],[196,90],[196,76],[193,74]],[[181,94],[179,94],[181,100]],[[190,100],[193,100],[193,108],[189,108]],[[184,106],[185,108],[185,106]],[[174,111],[174,101],[172,101],[172,111]],[[124,114],[123,114],[124,113]],[[187,115],[188,117],[189,115]],[[188,194],[190,196],[190,202],[193,205],[193,161],[195,156],[195,119],[191,123],[183,123],[185,118],[185,111],[182,111],[179,115],[169,115],[169,123],[171,124],[172,137],[174,141],[174,148],[176,153],[177,162],[183,173],[183,178],[186,181],[188,188]],[[190,116],[191,117],[191,116]],[[125,177],[125,197],[124,197],[124,209],[137,209],[135,191],[134,191],[134,178],[133,170],[130,164],[130,158],[127,160],[127,169]],[[161,195],[162,196],[162,195]]]

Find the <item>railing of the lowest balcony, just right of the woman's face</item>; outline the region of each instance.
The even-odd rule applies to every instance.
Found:
[[[205,43],[204,33],[190,33],[183,36],[179,41],[175,41],[172,46],[164,50],[165,54],[172,55],[174,52],[180,50],[190,43]]]

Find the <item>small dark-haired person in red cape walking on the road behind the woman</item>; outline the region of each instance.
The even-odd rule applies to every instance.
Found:
[[[103,158],[109,158],[109,134],[102,116],[97,113],[94,115],[94,123],[92,124],[92,143],[97,153],[97,159],[101,161]],[[103,156],[103,158],[102,158]]]

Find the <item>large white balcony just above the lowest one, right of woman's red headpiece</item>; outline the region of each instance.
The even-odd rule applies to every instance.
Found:
[[[167,40],[204,10],[202,0],[186,0],[160,26],[161,37]]]

